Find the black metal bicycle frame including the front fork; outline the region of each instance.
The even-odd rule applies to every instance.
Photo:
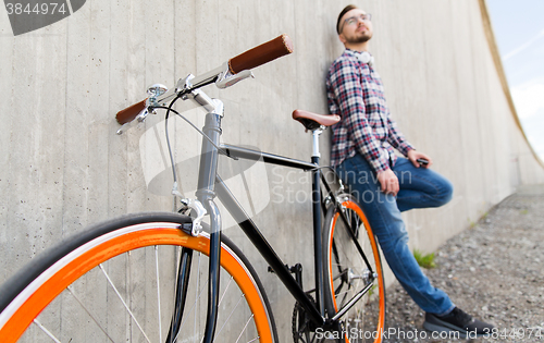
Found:
[[[331,187],[329,186],[325,177],[322,176],[321,170],[319,168],[319,157],[313,156],[311,162],[296,160],[283,156],[261,152],[257,150],[251,150],[238,146],[232,145],[220,145],[221,135],[221,115],[217,113],[208,113],[206,115],[206,124],[203,127],[203,133],[210,139],[202,139],[202,154],[200,157],[200,169],[198,176],[198,191],[196,193],[197,198],[205,206],[208,213],[211,216],[211,236],[210,236],[210,269],[209,278],[210,282],[208,284],[208,319],[205,331],[205,342],[211,342],[217,323],[217,306],[218,306],[218,295],[219,295],[219,272],[220,272],[220,253],[221,253],[221,216],[219,213],[218,207],[213,203],[215,196],[219,197],[221,203],[225,206],[233,218],[238,222],[238,225],[245,232],[247,237],[256,246],[262,257],[270,265],[272,270],[277,274],[280,280],[295,297],[295,299],[302,305],[310,319],[316,323],[317,327],[323,327],[334,320],[339,319],[347,310],[370,289],[367,285],[362,291],[360,291],[354,298],[348,302],[343,308],[338,310],[336,316],[333,318],[325,318],[324,314],[324,294],[322,292],[323,280],[323,257],[322,257],[322,244],[321,244],[321,230],[322,223],[321,218],[323,215],[323,209],[325,208],[324,201],[321,194],[321,182],[325,185],[327,193],[327,199],[333,203],[337,209],[339,209],[341,218],[346,223],[348,228],[348,219],[346,218],[344,211],[342,210],[342,204],[335,198]],[[228,157],[236,159],[248,159],[248,160],[261,160],[264,163],[283,166],[288,168],[300,169],[304,171],[311,171],[312,173],[312,215],[313,215],[313,245],[314,245],[314,270],[316,270],[316,299],[317,305],[313,304],[312,299],[305,293],[301,285],[293,277],[292,272],[283,264],[281,258],[274,252],[269,242],[264,238],[256,223],[249,218],[247,212],[244,210],[238,200],[234,197],[232,192],[225,185],[221,176],[217,173],[218,170],[218,158],[220,150],[226,154]],[[347,230],[348,232],[350,230]],[[357,241],[355,234],[350,232],[351,238],[355,242],[359,253],[363,257],[368,268],[373,273],[370,264],[368,262],[359,242]],[[185,253],[187,254],[187,253]],[[190,256],[184,257],[189,259]],[[187,265],[186,265],[187,266]],[[186,278],[189,271],[184,271],[183,277]],[[372,281],[372,280],[371,280]],[[180,282],[182,286],[186,284],[185,282]],[[177,290],[177,294],[183,298],[185,297],[186,287],[183,286],[182,290]],[[176,302],[177,303],[177,302]],[[176,305],[177,306],[177,305]],[[183,310],[183,309],[182,309]],[[176,313],[177,314],[177,313]],[[181,320],[182,314],[177,315]],[[176,327],[172,324],[172,327]],[[175,333],[175,332],[174,332]]]

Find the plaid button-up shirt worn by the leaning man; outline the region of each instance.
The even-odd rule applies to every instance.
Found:
[[[358,54],[346,49],[326,76],[329,109],[342,117],[332,127],[331,164],[336,167],[359,152],[379,173],[395,166],[393,147],[404,156],[413,147],[390,118],[380,75]]]

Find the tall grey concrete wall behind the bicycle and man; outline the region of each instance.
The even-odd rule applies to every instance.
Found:
[[[162,163],[148,134],[163,118],[118,136],[114,113],[145,98],[150,84],[173,86],[283,33],[294,40],[292,56],[255,70],[255,79],[208,89],[225,102],[224,142],[308,159],[310,136],[290,112],[326,112],[324,75],[343,51],[334,25],[349,2],[374,15],[371,50],[393,117],[455,185],[447,206],[405,215],[412,247],[431,252],[516,186],[544,182],[500,87],[477,0],[89,0],[69,19],[17,37],[1,9],[0,282],[89,223],[170,210],[170,197],[148,187]],[[186,113],[202,124],[202,115]],[[176,160],[184,161],[199,138],[178,125]],[[254,200],[268,204],[256,221],[286,264],[306,266],[311,286],[310,206],[295,197],[308,194],[309,183],[288,172],[267,168],[268,193],[252,184],[260,194]],[[287,176],[306,184],[280,183]],[[256,260],[287,341],[293,298]]]

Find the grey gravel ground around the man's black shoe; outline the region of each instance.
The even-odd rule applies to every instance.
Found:
[[[495,338],[472,342],[544,342],[544,185],[520,188],[435,256],[436,268],[425,270],[431,282],[498,329]],[[432,339],[423,321],[398,283],[387,290],[387,328],[406,338],[386,342],[466,341]]]

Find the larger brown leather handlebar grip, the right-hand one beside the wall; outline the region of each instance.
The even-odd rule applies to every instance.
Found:
[[[232,74],[237,74],[245,70],[250,70],[282,56],[293,52],[293,41],[289,36],[281,35],[258,47],[247,50],[228,60],[228,70]]]

